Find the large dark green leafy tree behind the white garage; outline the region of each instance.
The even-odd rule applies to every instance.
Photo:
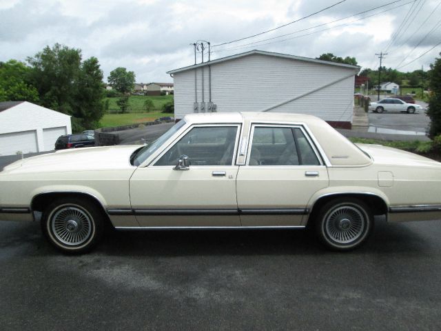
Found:
[[[103,116],[103,72],[94,57],[56,43],[28,57],[30,81],[43,106],[72,116],[72,130],[95,128]]]

